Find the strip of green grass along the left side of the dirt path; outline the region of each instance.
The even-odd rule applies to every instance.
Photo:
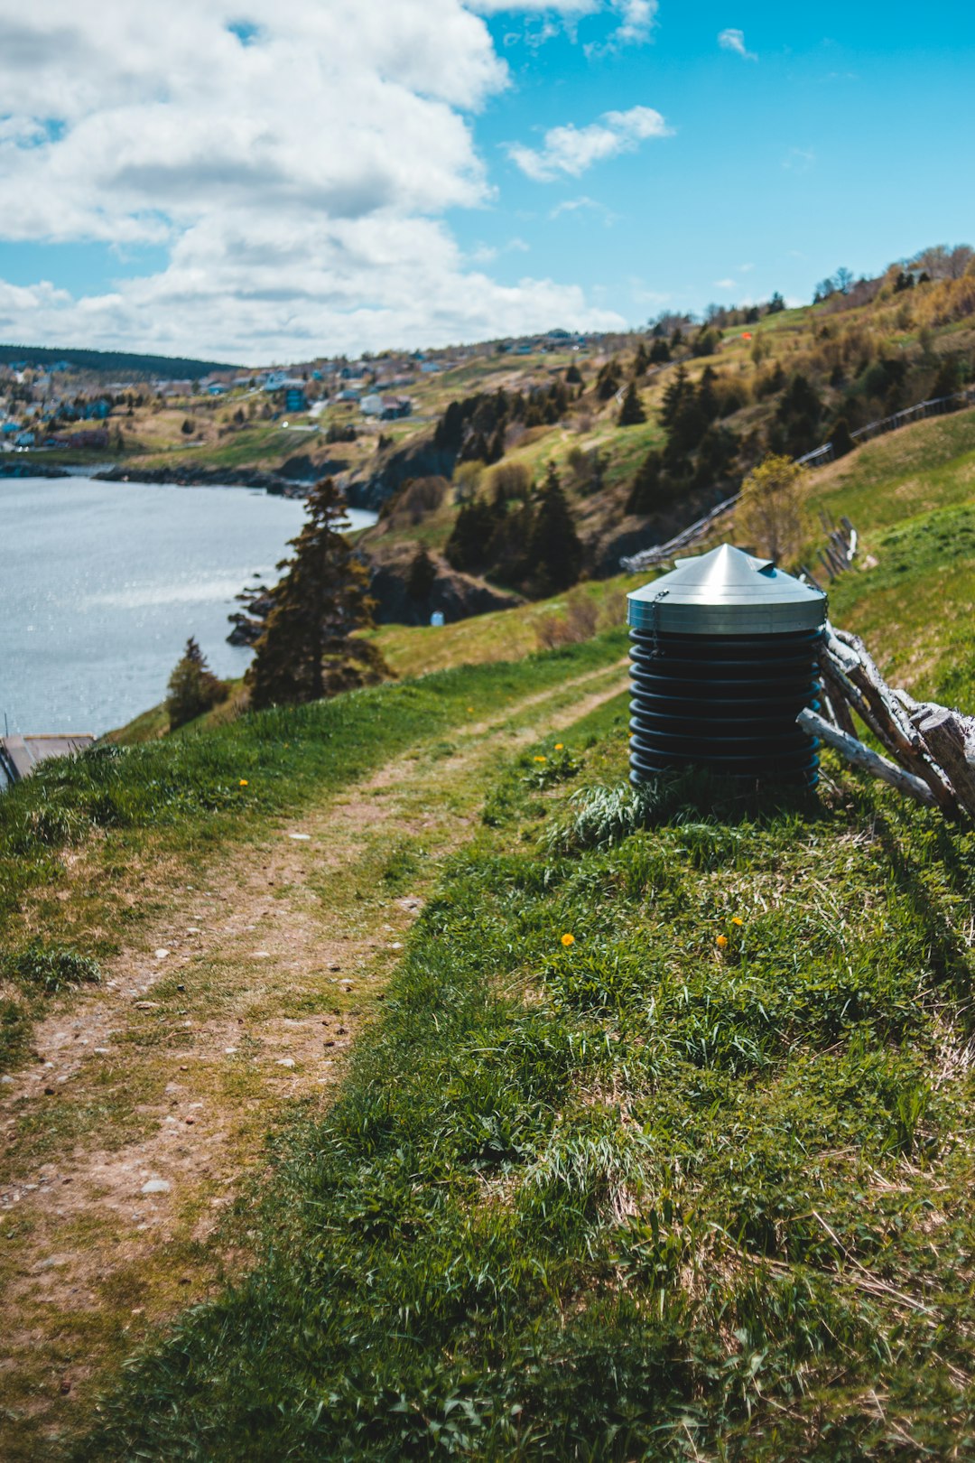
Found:
[[[618,629],[519,663],[462,666],[45,764],[0,797],[0,951],[16,960],[35,936],[50,936],[79,958],[111,955],[133,922],[156,909],[146,892],[133,903],[115,898],[140,862],[193,868],[221,844],[259,837],[282,813],[471,720],[469,707],[490,717],[623,651]],[[72,881],[69,856],[86,860],[80,881]],[[0,995],[0,1067],[10,1067],[23,1058],[44,992],[28,999],[4,977]]]

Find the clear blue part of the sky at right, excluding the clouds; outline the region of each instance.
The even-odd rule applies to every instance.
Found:
[[[605,16],[583,19],[574,42],[563,32],[538,48],[512,16],[493,18],[515,85],[477,138],[500,196],[488,217],[465,212],[452,227],[465,244],[531,244],[500,255],[498,278],[536,253],[558,257],[631,320],[642,294],[648,313],[656,296],[690,309],[776,288],[805,300],[841,263],[876,272],[928,243],[968,241],[975,6],[937,20],[928,35],[940,45],[925,48],[917,7],[664,0],[650,44],[593,56],[585,42],[607,34]],[[718,44],[728,29],[748,56]],[[504,47],[506,35],[519,40]],[[661,111],[672,136],[547,184],[506,159],[512,138],[636,104]]]

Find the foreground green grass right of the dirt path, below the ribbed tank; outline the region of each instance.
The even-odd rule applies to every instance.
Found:
[[[971,1438],[975,835],[836,767],[819,800],[697,780],[586,818],[623,720],[561,737],[582,772],[539,775],[550,740],[500,775],[336,1107],[278,1148],[263,1261],[75,1459]]]

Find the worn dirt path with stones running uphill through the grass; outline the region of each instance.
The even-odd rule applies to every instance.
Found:
[[[415,748],[197,884],[3,1080],[0,1456],[45,1459],[158,1323],[249,1263],[268,1140],[319,1110],[500,761],[624,686],[612,666]]]

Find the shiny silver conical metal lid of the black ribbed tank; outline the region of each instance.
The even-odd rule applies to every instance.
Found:
[[[776,569],[772,559],[721,544],[678,559],[671,573],[627,594],[636,631],[681,635],[785,635],[826,620],[826,595]]]

